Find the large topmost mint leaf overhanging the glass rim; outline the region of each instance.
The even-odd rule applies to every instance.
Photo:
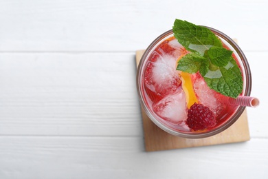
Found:
[[[176,19],[172,28],[175,38],[184,48],[201,56],[212,46],[222,47],[221,40],[208,28]]]

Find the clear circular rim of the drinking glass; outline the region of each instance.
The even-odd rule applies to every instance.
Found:
[[[251,76],[249,63],[247,62],[247,58],[245,54],[243,53],[243,51],[241,50],[241,48],[239,48],[239,46],[236,44],[236,42],[232,38],[230,38],[223,32],[216,30],[214,28],[210,28],[208,26],[203,26],[203,25],[200,25],[200,26],[209,28],[212,32],[214,32],[214,34],[216,34],[217,36],[220,36],[228,44],[230,44],[232,48],[234,48],[234,50],[237,52],[238,56],[241,59],[241,62],[243,63],[243,69],[245,70],[244,78],[246,79],[246,85],[244,89],[245,90],[244,96],[250,96],[251,90],[252,90],[252,76]],[[219,134],[221,131],[224,131],[225,129],[233,125],[236,122],[236,120],[238,120],[241,114],[243,114],[245,107],[239,106],[236,112],[232,115],[232,117],[229,120],[227,120],[223,125],[216,127],[215,129],[211,129],[210,131],[203,131],[203,132],[197,132],[197,133],[188,133],[188,132],[184,133],[183,131],[177,131],[175,129],[171,129],[170,127],[165,126],[163,123],[157,120],[153,116],[153,114],[150,113],[149,109],[147,109],[148,107],[146,107],[146,104],[144,101],[145,99],[142,97],[143,96],[142,87],[141,87],[142,67],[144,67],[144,63],[146,63],[146,56],[148,56],[148,54],[155,47],[155,45],[157,45],[157,43],[159,43],[159,41],[161,41],[162,39],[165,39],[166,36],[169,36],[171,34],[173,34],[173,31],[168,30],[164,32],[163,34],[159,35],[152,43],[150,43],[148,48],[146,48],[144,54],[142,55],[139,61],[139,65],[137,67],[137,76],[136,76],[136,83],[137,83],[136,86],[137,86],[137,92],[139,96],[139,102],[141,103],[142,108],[144,109],[144,112],[146,112],[150,120],[152,120],[153,123],[155,123],[155,125],[163,129],[164,131],[168,132],[169,134],[180,136],[183,138],[206,138],[209,136],[214,136],[215,134]]]

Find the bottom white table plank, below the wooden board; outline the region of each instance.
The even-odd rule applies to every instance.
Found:
[[[142,137],[1,137],[0,143],[0,178],[266,178],[268,175],[268,140],[264,139],[151,153],[144,152]]]

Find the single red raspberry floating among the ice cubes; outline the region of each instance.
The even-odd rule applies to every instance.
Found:
[[[214,113],[208,107],[194,103],[188,110],[186,124],[194,131],[198,131],[214,127],[216,119]]]

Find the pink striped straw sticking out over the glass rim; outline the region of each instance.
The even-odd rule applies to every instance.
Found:
[[[248,107],[257,107],[260,104],[258,98],[250,97],[250,96],[238,96],[235,98],[228,98],[228,103],[230,105],[241,105]]]

